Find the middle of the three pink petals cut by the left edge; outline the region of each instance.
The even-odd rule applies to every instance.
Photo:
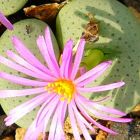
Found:
[[[41,82],[37,80],[30,80],[27,78],[22,78],[19,76],[11,75],[5,72],[0,72],[0,78],[3,78],[5,80],[8,80],[10,82],[19,84],[19,85],[24,85],[24,86],[46,86],[48,82]]]

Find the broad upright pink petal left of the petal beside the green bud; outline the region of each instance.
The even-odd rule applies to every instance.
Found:
[[[68,78],[70,76],[72,67],[72,47],[73,41],[67,41],[62,54],[62,64],[60,66],[60,74],[63,78]]]

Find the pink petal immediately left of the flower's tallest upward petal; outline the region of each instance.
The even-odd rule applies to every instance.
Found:
[[[46,63],[48,64],[48,68],[52,71],[53,75],[59,77],[59,66],[49,55],[48,48],[46,46],[43,36],[38,37],[37,44],[42,56],[44,57]]]

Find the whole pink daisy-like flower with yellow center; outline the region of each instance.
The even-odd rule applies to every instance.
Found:
[[[95,131],[91,124],[108,133],[117,134],[96,122],[91,116],[115,122],[131,121],[129,118],[120,118],[126,115],[125,113],[102,106],[83,96],[87,92],[102,92],[124,85],[124,82],[121,81],[108,85],[85,87],[111,65],[111,61],[106,61],[83,73],[80,62],[84,52],[85,40],[80,40],[75,54],[73,53],[73,42],[69,40],[64,47],[61,64],[59,64],[53,50],[49,28],[46,28],[45,37],[39,36],[37,39],[37,45],[44,57],[46,66],[17,37],[13,37],[12,41],[19,55],[8,50],[7,55],[12,60],[0,56],[0,63],[36,78],[36,80],[0,72],[0,78],[19,85],[33,87],[21,90],[1,90],[0,97],[7,98],[33,94],[36,94],[36,96],[11,110],[5,119],[6,125],[9,126],[15,123],[25,114],[41,105],[35,120],[26,132],[24,140],[36,140],[40,133],[45,136],[46,127],[48,126],[50,126],[48,140],[64,140],[63,125],[67,115],[70,117],[76,140],[80,140],[79,129],[86,140],[91,140],[88,130]],[[79,69],[82,73],[81,76],[78,74]]]

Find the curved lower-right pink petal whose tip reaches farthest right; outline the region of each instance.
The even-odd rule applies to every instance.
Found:
[[[93,116],[96,116],[97,118],[103,119],[103,120],[110,120],[114,122],[130,122],[132,119],[126,119],[126,118],[116,118],[116,117],[111,117],[110,115],[100,113],[94,108],[91,107],[90,103],[87,103],[83,100],[77,99],[81,105],[88,111],[93,114]],[[104,111],[104,110],[102,110]],[[110,113],[111,114],[111,113]],[[114,115],[114,114],[113,114]]]

